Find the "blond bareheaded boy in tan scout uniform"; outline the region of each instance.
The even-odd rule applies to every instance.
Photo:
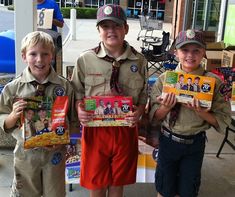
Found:
[[[65,197],[65,145],[24,149],[23,131],[19,125],[27,104],[24,98],[35,96],[45,84],[45,95],[53,95],[53,99],[69,95],[69,109],[72,112],[74,92],[70,82],[58,76],[51,67],[54,51],[49,34],[36,31],[26,35],[22,40],[21,52],[28,66],[0,94],[0,128],[17,140],[12,197]],[[73,121],[71,117],[76,117],[76,114],[67,116],[67,123],[68,119]]]

